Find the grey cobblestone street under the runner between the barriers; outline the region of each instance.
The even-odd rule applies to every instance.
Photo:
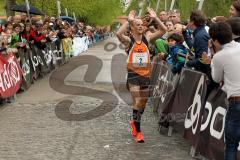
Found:
[[[117,48],[106,52],[104,46],[109,41],[118,44],[116,39],[109,39],[82,53],[94,55],[103,61],[94,83],[84,83],[85,66],[76,68],[64,80],[66,85],[97,89],[99,93],[96,95],[94,92],[78,95],[54,91],[49,85],[48,75],[28,91],[19,94],[15,103],[1,106],[0,160],[191,159],[190,145],[180,133],[174,132],[172,137],[168,137],[167,133],[159,134],[158,119],[153,114],[151,105],[148,105],[143,116],[144,144],[134,142],[129,125],[132,111],[119,97],[117,104],[107,99],[105,106],[108,109],[95,109],[103,100],[94,97],[107,93],[110,96],[116,95],[109,74],[111,59],[114,55],[123,53],[123,50]],[[72,60],[68,64],[71,62]],[[59,102],[64,100],[73,102],[69,108],[71,114],[81,115],[91,111],[95,117],[64,121],[59,118],[57,110]]]

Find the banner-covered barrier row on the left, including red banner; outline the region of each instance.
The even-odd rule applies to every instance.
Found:
[[[30,48],[19,48],[15,54],[0,54],[0,99],[14,97],[20,90],[27,90],[34,81],[50,73],[73,56],[72,39],[55,39],[43,49],[34,44]],[[86,51],[90,45],[86,37]],[[97,43],[94,40],[91,42]],[[5,53],[5,54],[4,54]],[[20,77],[20,78],[19,78]]]

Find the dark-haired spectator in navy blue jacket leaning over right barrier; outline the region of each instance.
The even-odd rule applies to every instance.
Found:
[[[208,41],[210,39],[209,34],[205,29],[206,18],[201,11],[193,11],[190,15],[190,22],[187,25],[189,30],[183,32],[185,41],[190,49],[195,52],[195,58],[186,63],[187,67],[195,68],[196,70],[203,72],[207,75],[207,93],[208,98],[211,91],[218,87],[211,76],[210,64],[206,64],[204,59],[208,53]],[[191,37],[191,30],[193,30],[193,38]]]

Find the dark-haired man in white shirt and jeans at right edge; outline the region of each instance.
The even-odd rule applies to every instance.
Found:
[[[213,24],[209,30],[218,52],[213,56],[212,77],[223,83],[229,108],[225,119],[224,160],[237,160],[240,142],[240,44],[232,41],[232,30],[226,22]]]

